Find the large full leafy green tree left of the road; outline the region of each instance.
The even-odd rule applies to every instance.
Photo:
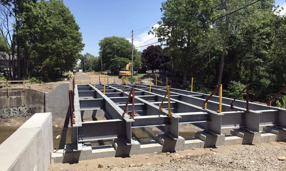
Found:
[[[34,69],[51,78],[59,70],[72,70],[83,50],[82,34],[62,0],[37,3],[40,19],[29,37]]]

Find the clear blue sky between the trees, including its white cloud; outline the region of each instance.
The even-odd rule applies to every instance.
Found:
[[[97,56],[99,40],[104,37],[125,37],[132,29],[138,30],[160,21],[162,16],[160,7],[163,0],[63,0],[63,2],[74,14],[76,22],[80,26],[85,44],[82,54],[88,52]],[[286,11],[285,0],[277,0],[276,4],[284,7],[282,13]],[[134,32],[134,38],[144,36],[134,40],[135,46],[151,38],[153,39],[140,46],[158,41],[153,35],[145,36],[150,29]],[[146,47],[138,48],[138,50],[142,51]]]

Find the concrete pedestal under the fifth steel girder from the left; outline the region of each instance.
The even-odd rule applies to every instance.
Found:
[[[242,129],[231,129],[231,135],[243,138],[242,144],[252,144],[261,142],[261,133],[251,132]]]

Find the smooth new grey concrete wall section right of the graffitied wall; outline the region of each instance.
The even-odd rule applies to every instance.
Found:
[[[53,119],[65,118],[69,111],[69,82],[61,83],[45,93],[45,112],[53,113]]]

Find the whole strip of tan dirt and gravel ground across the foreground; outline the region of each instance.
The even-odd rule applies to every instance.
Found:
[[[175,154],[179,159],[174,159]],[[182,156],[182,158],[180,157]],[[49,171],[147,171],[147,170],[286,170],[285,142],[257,143],[252,145],[217,146],[217,148],[195,148],[179,150],[176,153],[138,154],[130,157],[107,157],[83,160],[75,164],[53,163]],[[98,165],[102,164],[103,168]],[[108,167],[108,165],[110,167]],[[130,167],[131,166],[131,167]]]

